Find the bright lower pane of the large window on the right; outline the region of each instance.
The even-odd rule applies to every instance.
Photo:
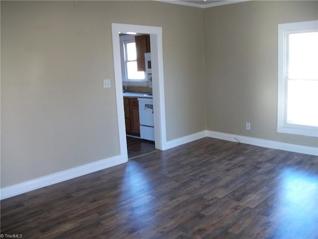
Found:
[[[318,126],[318,81],[288,81],[287,123]]]

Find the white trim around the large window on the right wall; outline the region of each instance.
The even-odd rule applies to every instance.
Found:
[[[287,123],[287,37],[289,33],[317,31],[318,20],[278,24],[277,132],[318,137],[318,127]]]

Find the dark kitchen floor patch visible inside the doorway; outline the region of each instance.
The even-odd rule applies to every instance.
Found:
[[[127,136],[128,158],[136,158],[147,153],[157,151],[155,142]]]

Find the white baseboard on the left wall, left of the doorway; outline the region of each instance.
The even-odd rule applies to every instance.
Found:
[[[88,173],[96,172],[118,164],[127,162],[128,159],[122,155],[87,163],[75,168],[67,169],[57,173],[52,173],[43,177],[35,178],[23,183],[15,184],[0,189],[0,198],[10,198],[18,194],[26,193],[38,188],[46,187],[55,183],[60,183],[72,178],[76,178]]]

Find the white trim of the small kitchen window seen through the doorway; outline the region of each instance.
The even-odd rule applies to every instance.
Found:
[[[122,82],[124,86],[141,86],[147,87],[148,81],[127,81],[126,75],[126,64],[124,59],[124,41],[135,41],[135,35],[125,35],[119,37],[120,41],[120,62],[121,62],[121,75],[122,75]]]

